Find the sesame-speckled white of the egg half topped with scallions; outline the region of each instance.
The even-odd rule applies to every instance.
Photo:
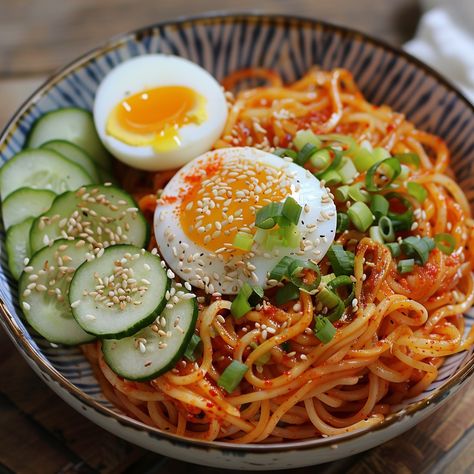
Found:
[[[270,165],[285,170],[291,180],[292,196],[303,208],[298,223],[301,237],[306,247],[303,249],[275,248],[266,252],[254,243],[248,261],[252,265],[253,274],[246,277],[241,269],[231,261],[223,261],[212,252],[192,240],[181,227],[179,207],[183,196],[189,189],[184,177],[195,175],[205,168],[216,156],[224,160],[248,160]],[[235,294],[243,282],[268,288],[268,273],[285,256],[294,256],[303,260],[320,261],[334,240],[336,231],[336,207],[328,195],[327,189],[309,171],[294,163],[289,163],[276,155],[250,147],[224,148],[208,152],[184,166],[171,179],[163,191],[164,197],[156,211],[154,219],[155,237],[159,250],[173,271],[191,285],[204,288],[208,293],[219,292]],[[167,197],[178,196],[178,199],[167,200]],[[286,197],[285,197],[286,198]],[[169,202],[173,201],[173,202]],[[191,255],[198,255],[188,261]],[[265,254],[265,255],[264,255]],[[242,254],[240,254],[241,256]],[[249,254],[250,255],[250,254]],[[236,257],[240,260],[240,257]],[[234,260],[235,261],[235,260]],[[230,276],[230,278],[229,278]]]

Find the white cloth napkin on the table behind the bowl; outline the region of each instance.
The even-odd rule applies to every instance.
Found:
[[[421,0],[425,13],[405,49],[474,103],[474,0]]]

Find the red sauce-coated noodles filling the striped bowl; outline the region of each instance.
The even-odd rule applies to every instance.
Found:
[[[264,304],[239,320],[218,317],[229,314],[230,301],[208,298],[200,304],[196,328],[202,356],[194,363],[183,359],[149,383],[118,377],[104,362],[100,343],[84,351],[112,403],[145,424],[181,436],[260,443],[370,427],[383,420],[391,405],[422,393],[445,357],[474,343],[474,331],[464,335],[463,320],[474,303],[469,202],[449,176],[444,142],[416,130],[390,108],[367,102],[348,71],[314,69],[285,86],[274,72],[250,69],[223,84],[231,90],[257,79],[268,85],[235,98],[227,94],[230,113],[216,148],[246,145],[273,151],[290,146],[297,130],[311,129],[349,135],[391,153],[414,152],[421,162],[417,182],[428,196],[420,204],[422,218],[413,235],[448,233],[458,250],[451,255],[434,250],[425,266],[401,276],[387,247],[358,231],[342,233],[338,242],[355,253],[357,304],[326,344],[312,331],[313,299],[301,292],[300,301],[290,307]],[[127,172],[123,186],[152,218],[156,193],[172,175]],[[257,327],[268,328],[265,338]],[[261,363],[262,358],[268,360]],[[249,370],[227,394],[216,382],[231,360]]]

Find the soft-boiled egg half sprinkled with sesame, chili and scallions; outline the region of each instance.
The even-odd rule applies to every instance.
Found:
[[[256,213],[288,196],[302,207],[298,242],[265,248],[256,238]],[[268,274],[285,255],[321,260],[334,240],[336,207],[323,183],[301,166],[255,148],[222,148],[173,176],[158,201],[154,227],[176,274],[208,293],[235,294],[244,282],[272,286]],[[250,248],[235,246],[237,233],[255,238]]]

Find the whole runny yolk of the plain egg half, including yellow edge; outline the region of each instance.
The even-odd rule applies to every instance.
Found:
[[[133,94],[109,115],[106,132],[128,145],[168,151],[181,145],[179,129],[206,120],[206,99],[185,86],[162,86]]]

